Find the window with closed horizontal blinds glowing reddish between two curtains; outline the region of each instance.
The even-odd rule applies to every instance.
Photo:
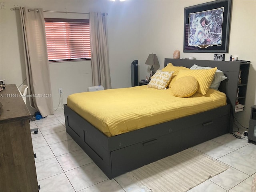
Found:
[[[45,18],[49,62],[91,59],[88,19]]]

